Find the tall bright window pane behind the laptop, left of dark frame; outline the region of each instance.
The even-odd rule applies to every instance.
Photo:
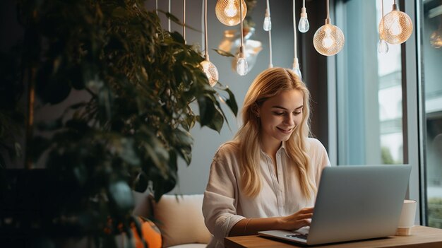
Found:
[[[402,164],[401,46],[378,53],[381,1],[340,4],[343,17],[337,25],[345,47],[336,64],[338,165]],[[392,6],[393,0],[385,0],[384,14]]]

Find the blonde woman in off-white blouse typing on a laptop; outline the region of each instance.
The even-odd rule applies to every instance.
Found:
[[[246,93],[242,126],[215,154],[204,192],[205,225],[224,238],[309,225],[327,151],[309,138],[309,90],[289,69],[260,73]]]

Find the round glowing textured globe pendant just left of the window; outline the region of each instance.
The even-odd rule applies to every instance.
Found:
[[[325,25],[316,30],[313,36],[313,46],[318,53],[325,56],[335,55],[342,47],[344,47],[345,37],[340,28],[332,25],[330,22],[330,13],[328,11],[329,4],[327,0],[327,18],[325,18]]]

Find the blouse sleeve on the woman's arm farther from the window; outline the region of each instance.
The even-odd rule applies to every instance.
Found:
[[[238,183],[234,173],[237,160],[232,153],[231,149],[225,147],[217,151],[204,191],[205,225],[218,242],[224,242],[232,227],[244,219],[237,215]]]

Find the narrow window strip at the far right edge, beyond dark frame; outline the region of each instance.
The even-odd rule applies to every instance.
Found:
[[[423,1],[422,81],[426,127],[426,197],[429,226],[442,228],[442,1]]]

